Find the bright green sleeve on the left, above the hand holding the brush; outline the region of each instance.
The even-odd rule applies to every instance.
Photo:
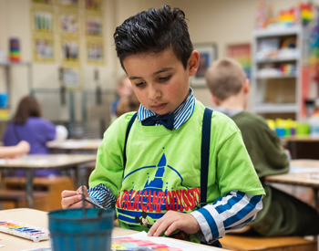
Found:
[[[105,184],[117,198],[123,179],[123,149],[125,135],[132,113],[126,113],[115,120],[104,133],[98,148],[95,170],[89,177],[89,187]]]

